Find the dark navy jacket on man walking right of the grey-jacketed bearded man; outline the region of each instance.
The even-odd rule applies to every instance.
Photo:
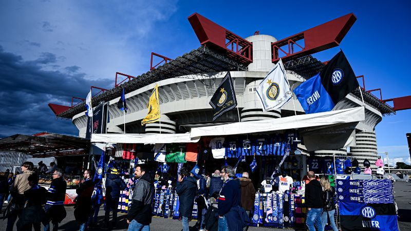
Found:
[[[178,211],[182,217],[191,217],[193,213],[194,197],[197,190],[197,181],[194,177],[187,177],[177,184],[176,192],[179,196]]]

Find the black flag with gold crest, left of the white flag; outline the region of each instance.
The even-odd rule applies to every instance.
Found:
[[[223,113],[237,106],[233,82],[231,81],[229,71],[224,79],[222,79],[220,85],[218,85],[213,97],[210,100],[210,105],[214,108],[213,121]]]

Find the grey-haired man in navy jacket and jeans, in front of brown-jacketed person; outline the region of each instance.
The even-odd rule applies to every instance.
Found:
[[[234,180],[234,169],[222,167],[221,179],[224,181],[218,197],[218,231],[241,231],[250,223],[246,211],[240,206],[240,181]]]

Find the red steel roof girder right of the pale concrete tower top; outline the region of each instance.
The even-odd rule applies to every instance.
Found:
[[[283,62],[297,59],[299,57],[339,46],[356,20],[357,17],[353,13],[349,13],[327,23],[284,38],[283,40],[271,43],[273,52],[272,62],[277,62],[279,59],[283,59]],[[304,46],[297,44],[297,42],[301,40],[304,40]],[[286,50],[282,49],[282,47],[287,45],[288,47]],[[294,52],[295,45],[301,50],[298,49],[300,51]],[[280,57],[278,51],[282,51],[285,56]]]

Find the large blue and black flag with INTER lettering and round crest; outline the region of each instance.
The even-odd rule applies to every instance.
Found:
[[[307,114],[330,111],[358,88],[356,75],[343,51],[338,52],[324,69],[294,89]]]

